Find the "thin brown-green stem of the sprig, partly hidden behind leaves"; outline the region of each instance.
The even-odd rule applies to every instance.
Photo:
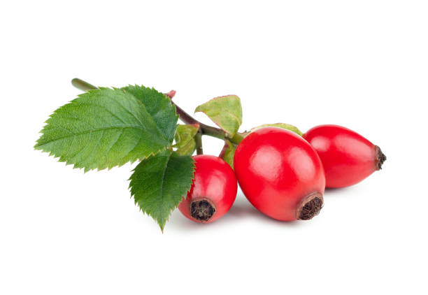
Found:
[[[71,84],[73,84],[74,87],[76,87],[80,90],[83,90],[83,91],[87,91],[87,90],[91,90],[91,89],[98,89],[97,86],[94,86],[88,82],[85,82],[84,80],[80,80],[79,78],[74,78],[73,80],[71,80]],[[172,93],[172,92],[170,92],[170,93]],[[176,92],[173,92],[173,94],[175,94],[175,93]],[[167,95],[167,96],[169,96],[169,95]],[[171,99],[170,96],[169,96],[169,98]],[[229,139],[229,141],[231,143],[234,143],[236,145],[241,143],[241,141],[244,138],[243,135],[240,133],[237,133],[232,138],[229,138],[229,136],[227,136],[226,132],[222,131],[222,129],[212,127],[212,126],[208,126],[204,123],[199,122],[198,120],[194,119],[194,117],[187,114],[185,112],[185,110],[183,110],[183,108],[180,108],[179,106],[177,106],[176,103],[174,103],[172,100],[171,100],[171,103],[174,106],[176,106],[176,110],[177,110],[178,116],[180,117],[180,120],[182,120],[186,124],[199,124],[199,130],[201,131],[201,134],[203,134],[203,135],[212,136],[212,137],[219,138],[222,140],[224,140],[224,138],[227,138],[227,139]],[[202,145],[201,145],[201,152],[202,152]]]

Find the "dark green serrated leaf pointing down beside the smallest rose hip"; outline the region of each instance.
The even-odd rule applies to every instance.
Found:
[[[136,166],[130,178],[131,195],[164,231],[169,215],[190,190],[193,175],[192,157],[165,150]]]

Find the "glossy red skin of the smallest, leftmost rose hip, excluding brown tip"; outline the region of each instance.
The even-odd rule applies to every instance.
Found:
[[[229,211],[236,199],[238,183],[234,171],[223,159],[208,154],[200,154],[193,159],[196,169],[192,188],[178,209],[185,217],[201,223],[190,215],[190,204],[201,198],[208,199],[214,204],[215,213],[210,220],[203,223],[210,223]]]

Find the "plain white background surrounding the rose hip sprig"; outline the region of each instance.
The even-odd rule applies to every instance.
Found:
[[[3,1],[0,294],[427,294],[427,15],[408,0]],[[176,89],[190,113],[237,94],[242,131],[341,124],[388,159],[309,222],[239,192],[221,220],[175,211],[162,234],[129,197],[131,165],[84,174],[33,150],[77,76]]]

